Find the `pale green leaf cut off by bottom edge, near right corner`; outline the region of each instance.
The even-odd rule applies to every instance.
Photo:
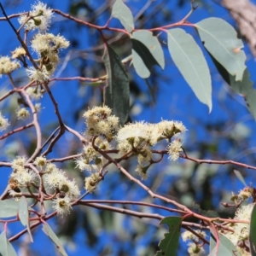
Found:
[[[209,256],[241,256],[235,245],[226,236],[218,233],[218,238],[219,244],[217,247],[216,238],[211,234]]]

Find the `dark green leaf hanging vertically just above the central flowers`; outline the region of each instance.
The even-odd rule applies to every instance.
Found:
[[[113,109],[113,114],[119,117],[119,123],[124,125],[128,119],[130,108],[128,75],[119,55],[108,44],[105,46],[103,61],[108,73],[105,103]]]

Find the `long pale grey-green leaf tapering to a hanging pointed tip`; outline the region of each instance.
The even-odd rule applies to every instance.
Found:
[[[198,46],[183,29],[168,30],[168,49],[195,96],[212,110],[212,81],[207,61]]]

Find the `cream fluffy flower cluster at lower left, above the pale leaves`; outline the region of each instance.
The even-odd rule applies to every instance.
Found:
[[[77,200],[80,195],[79,187],[74,180],[67,178],[64,171],[60,170],[55,164],[47,162],[44,156],[39,156],[33,162],[39,171],[26,168],[26,157],[18,156],[13,160],[13,172],[9,178],[9,194],[20,197],[21,189],[29,189],[30,186],[40,181],[39,176],[43,179],[41,186],[47,193],[50,200],[53,201],[53,208],[58,214],[70,212],[73,201]]]

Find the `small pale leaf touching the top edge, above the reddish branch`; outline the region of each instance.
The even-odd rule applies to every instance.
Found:
[[[116,0],[115,3],[113,3],[111,16],[119,19],[127,32],[132,32],[134,30],[134,21],[131,10],[122,0]]]

